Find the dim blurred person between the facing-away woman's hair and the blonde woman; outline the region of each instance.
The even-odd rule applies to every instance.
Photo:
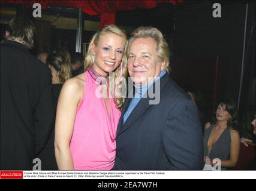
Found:
[[[82,53],[74,53],[71,56],[71,74],[72,76],[77,76],[80,73],[85,72],[85,66],[83,63],[85,62],[85,58]]]

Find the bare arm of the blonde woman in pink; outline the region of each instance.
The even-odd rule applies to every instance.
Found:
[[[79,79],[65,82],[59,95],[55,121],[55,156],[59,170],[74,170],[70,152],[77,107],[83,97],[83,87]]]

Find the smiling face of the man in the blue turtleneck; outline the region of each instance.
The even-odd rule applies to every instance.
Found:
[[[157,44],[151,37],[137,38],[131,43],[127,68],[135,85],[148,84],[164,70],[156,51]]]

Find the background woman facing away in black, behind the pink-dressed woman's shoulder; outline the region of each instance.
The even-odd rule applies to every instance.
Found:
[[[52,53],[47,57],[47,64],[52,71],[52,88],[53,88],[53,101],[55,104],[55,112],[58,103],[59,93],[61,92],[62,85],[67,79],[71,78],[70,64],[59,53]],[[55,117],[55,115],[54,115]],[[55,150],[54,150],[54,137],[55,130],[50,134],[44,150],[37,156],[41,159],[42,170],[58,170]]]

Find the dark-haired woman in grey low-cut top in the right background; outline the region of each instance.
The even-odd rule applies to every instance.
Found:
[[[237,109],[232,100],[218,104],[215,118],[204,126],[204,157],[206,165],[221,160],[221,168],[234,167],[239,157],[240,135],[237,127]]]

